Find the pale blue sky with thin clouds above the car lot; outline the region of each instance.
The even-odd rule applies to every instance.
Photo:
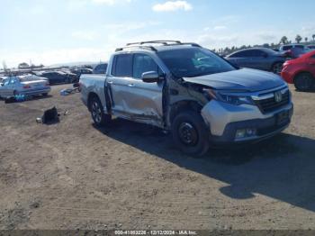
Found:
[[[0,0],[0,68],[105,61],[132,41],[210,49],[315,34],[315,1]]]

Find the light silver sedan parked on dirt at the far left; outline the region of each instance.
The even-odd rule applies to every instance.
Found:
[[[40,77],[7,77],[0,84],[0,96],[4,98],[16,95],[48,95],[50,86]]]

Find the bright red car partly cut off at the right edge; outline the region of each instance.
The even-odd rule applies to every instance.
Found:
[[[310,91],[315,86],[315,50],[284,62],[281,76],[297,90]]]

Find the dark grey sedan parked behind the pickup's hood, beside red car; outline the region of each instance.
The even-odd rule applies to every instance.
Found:
[[[228,59],[232,64],[241,68],[257,68],[272,71],[275,74],[281,72],[284,64],[285,54],[266,48],[251,48],[238,50],[229,54]]]

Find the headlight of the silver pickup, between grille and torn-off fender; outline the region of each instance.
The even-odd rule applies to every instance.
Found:
[[[248,95],[231,95],[231,94],[225,94],[221,93],[219,91],[215,91],[210,88],[204,88],[203,92],[207,97],[210,97],[211,99],[218,100],[223,103],[227,104],[254,104],[253,99]]]

